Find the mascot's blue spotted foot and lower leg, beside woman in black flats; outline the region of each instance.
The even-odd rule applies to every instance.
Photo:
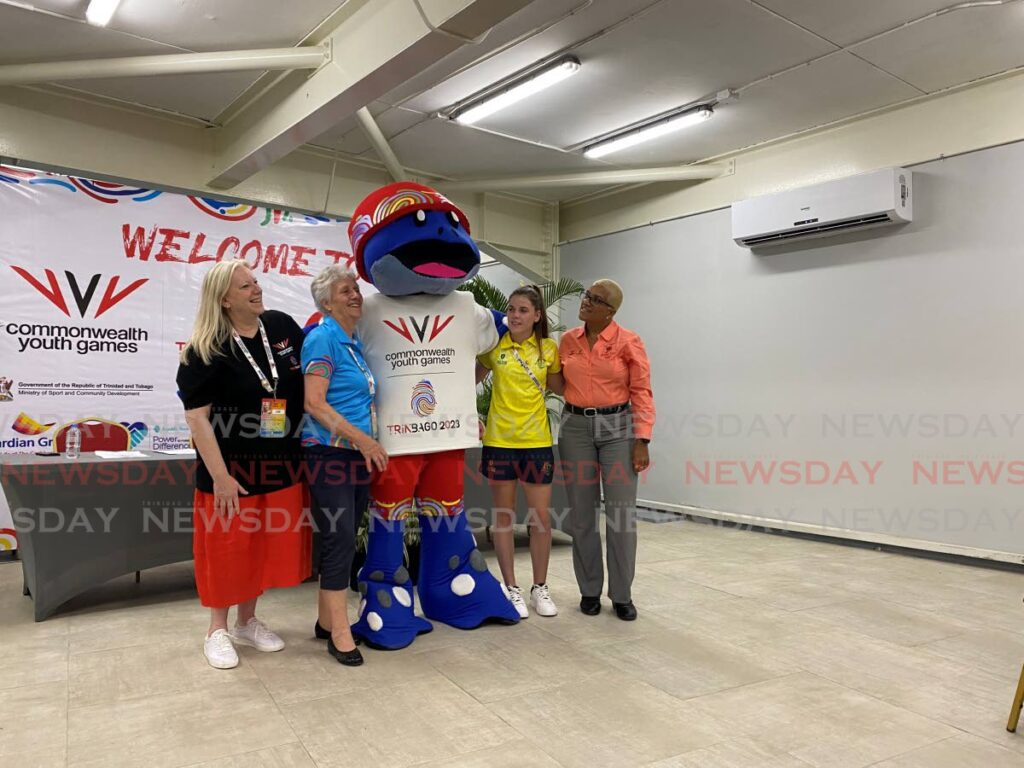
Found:
[[[371,648],[404,648],[417,635],[430,632],[430,622],[413,612],[413,581],[403,565],[404,523],[371,515],[367,561],[359,570],[359,621],[353,637]]]

